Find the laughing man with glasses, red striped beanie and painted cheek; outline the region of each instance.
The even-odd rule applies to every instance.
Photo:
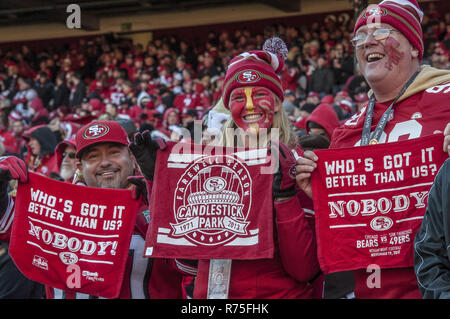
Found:
[[[414,139],[442,132],[446,125],[450,134],[450,72],[420,65],[422,17],[416,0],[385,0],[361,12],[352,43],[370,99],[334,131],[330,148]],[[363,129],[365,122],[370,130]],[[297,161],[297,183],[310,196],[316,161],[311,151]],[[413,267],[381,269],[379,288],[368,287],[371,274],[354,271],[356,298],[421,298]]]

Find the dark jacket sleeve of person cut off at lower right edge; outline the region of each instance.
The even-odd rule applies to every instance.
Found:
[[[424,299],[450,299],[450,159],[436,175],[414,240],[414,269]]]

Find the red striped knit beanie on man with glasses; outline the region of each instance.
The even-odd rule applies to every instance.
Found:
[[[356,20],[353,33],[365,24],[386,23],[400,31],[423,57],[422,22],[423,12],[417,0],[384,0],[378,5],[369,5]]]

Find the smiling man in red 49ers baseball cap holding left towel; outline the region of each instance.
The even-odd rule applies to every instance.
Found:
[[[148,227],[148,196],[134,157],[128,149],[128,143],[128,136],[118,122],[94,121],[83,126],[76,135],[76,157],[80,163],[74,183],[98,188],[132,189],[135,198],[141,200],[119,298],[182,298],[182,280],[189,267],[182,261],[143,257]],[[15,199],[6,192],[10,179],[19,179],[23,183],[28,179],[25,163],[15,156],[0,159],[0,240],[6,242],[10,239],[15,207]],[[46,287],[46,297],[98,298],[49,286]]]

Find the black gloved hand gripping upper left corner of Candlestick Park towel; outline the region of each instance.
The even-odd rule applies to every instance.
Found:
[[[166,149],[167,145],[163,139],[152,140],[150,131],[136,133],[134,141],[128,145],[128,148],[134,154],[136,161],[141,169],[142,175],[149,180],[153,180],[155,174],[156,154],[159,149]]]

